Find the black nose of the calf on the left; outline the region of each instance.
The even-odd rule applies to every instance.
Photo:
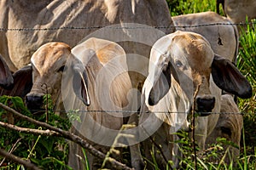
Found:
[[[28,94],[25,97],[25,103],[27,109],[29,109],[30,111],[40,110],[43,106],[43,96]]]

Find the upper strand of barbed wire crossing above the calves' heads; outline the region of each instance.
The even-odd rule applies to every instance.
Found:
[[[195,27],[204,27],[204,26],[247,26],[253,25],[256,22],[247,22],[247,23],[209,23],[202,25],[192,25],[192,26],[61,26],[61,27],[46,27],[46,28],[0,28],[0,31],[57,31],[57,30],[93,30],[100,28],[107,29],[168,29],[168,28],[195,28]]]

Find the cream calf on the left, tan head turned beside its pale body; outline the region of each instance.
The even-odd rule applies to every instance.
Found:
[[[124,49],[98,38],[72,50],[66,43],[49,42],[38,48],[31,61],[33,86],[26,105],[38,109],[44,94],[51,94],[55,111],[81,111],[81,122],[74,121],[71,131],[107,153],[124,123],[121,111],[130,107],[131,80]],[[91,169],[102,166],[102,160],[86,154]],[[83,169],[81,157],[80,146],[70,144],[68,164]]]

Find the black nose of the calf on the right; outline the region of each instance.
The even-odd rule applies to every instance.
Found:
[[[215,98],[197,98],[196,99],[196,111],[198,112],[211,112],[215,105]],[[201,116],[208,116],[209,114],[202,114]]]

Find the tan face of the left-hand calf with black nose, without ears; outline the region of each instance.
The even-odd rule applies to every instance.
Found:
[[[49,42],[32,55],[32,90],[26,94],[26,105],[31,110],[43,106],[44,94],[51,94],[56,104],[61,92],[61,77],[70,47],[62,42]]]

